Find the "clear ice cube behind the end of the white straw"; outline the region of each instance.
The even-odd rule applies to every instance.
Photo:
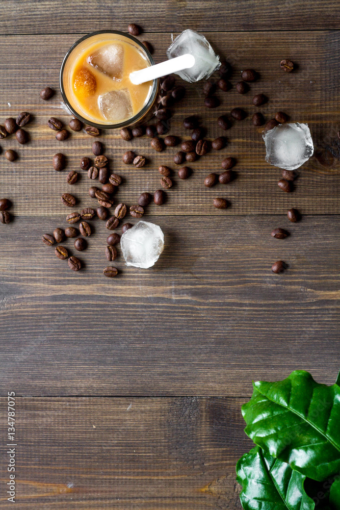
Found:
[[[204,35],[190,29],[179,34],[167,49],[169,59],[180,57],[186,53],[194,55],[195,65],[189,69],[177,71],[175,74],[187,82],[193,83],[202,80],[202,78],[209,78],[221,66],[218,56],[215,55]]]

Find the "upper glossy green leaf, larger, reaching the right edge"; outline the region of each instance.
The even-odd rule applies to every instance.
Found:
[[[253,384],[242,406],[246,434],[273,457],[314,480],[340,472],[340,387],[303,370]]]

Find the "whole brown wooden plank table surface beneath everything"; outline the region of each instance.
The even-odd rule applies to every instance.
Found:
[[[241,508],[234,472],[251,447],[241,416],[251,381],[305,369],[332,384],[339,369],[338,4],[6,0],[0,7],[0,124],[21,111],[33,115],[29,143],[14,136],[0,142],[0,197],[13,202],[13,221],[0,225],[0,424],[4,450],[7,393],[14,391],[16,505]],[[148,207],[145,219],[165,234],[158,263],[127,268],[119,256],[119,276],[107,279],[103,222],[92,222],[78,273],[41,242],[67,226],[63,192],[77,197],[77,210],[94,206],[85,172],[72,188],[66,184],[67,171],[91,156],[94,139],[80,132],[57,142],[46,122],[70,119],[58,88],[67,49],[88,32],[126,31],[130,22],[142,25],[140,39],[153,44],[156,62],[172,34],[191,28],[232,65],[233,88],[218,92],[217,109],[204,107],[202,83],[185,84],[170,134],[188,139],[182,120],[191,114],[210,140],[224,134],[219,115],[243,107],[248,117],[226,132],[226,148],[192,164],[191,179],[174,178],[163,207]],[[293,73],[280,70],[283,58],[297,64]],[[239,95],[234,86],[247,67],[260,79]],[[46,85],[57,93],[42,101]],[[261,128],[251,124],[259,92],[269,97],[260,108],[266,119],[280,110],[310,126],[315,156],[290,194],[278,188],[280,170],[266,163]],[[176,175],[176,147],[155,154],[146,137],[124,142],[117,132],[100,140],[110,168],[124,177],[119,201],[131,205],[159,188],[160,164]],[[17,150],[16,162],[5,159],[7,148]],[[129,148],[147,157],[142,170],[122,163]],[[67,156],[63,172],[51,164],[59,151]],[[226,156],[237,158],[237,178],[205,188],[205,175],[220,172]],[[230,208],[214,209],[215,196]],[[287,220],[291,207],[300,222]],[[290,237],[271,238],[278,226]],[[279,259],[289,268],[276,275],[271,266]],[[3,473],[0,501],[10,508]]]

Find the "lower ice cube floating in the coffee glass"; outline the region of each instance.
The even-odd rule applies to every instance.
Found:
[[[107,120],[116,123],[132,116],[132,103],[127,89],[112,90],[98,97],[101,114]]]

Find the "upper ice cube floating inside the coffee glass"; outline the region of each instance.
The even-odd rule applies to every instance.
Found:
[[[89,55],[87,62],[114,80],[121,80],[123,73],[124,48],[121,44],[108,44]]]

